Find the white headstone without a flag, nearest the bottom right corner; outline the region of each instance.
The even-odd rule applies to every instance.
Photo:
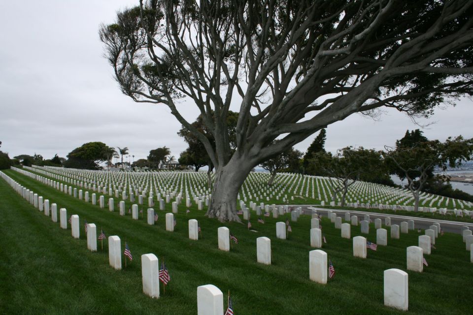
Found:
[[[399,269],[384,271],[384,305],[407,311],[409,291],[407,273]]]

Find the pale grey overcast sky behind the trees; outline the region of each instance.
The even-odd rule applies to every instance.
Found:
[[[121,94],[103,58],[98,30],[116,11],[138,0],[24,0],[0,2],[0,141],[10,158],[34,153],[44,158],[90,141],[128,147],[146,158],[162,146],[172,155],[186,149],[180,124],[165,106],[138,104]],[[437,110],[422,125],[430,139],[473,137],[472,101]],[[198,112],[181,104],[185,117]],[[348,145],[382,149],[416,126],[404,114],[387,110],[379,121],[352,115],[327,128],[326,149]],[[315,135],[296,145],[305,151]]]

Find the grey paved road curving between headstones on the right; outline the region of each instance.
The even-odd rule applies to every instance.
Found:
[[[420,229],[428,229],[429,226],[432,225],[432,223],[438,222],[440,223],[440,227],[445,232],[461,234],[462,226],[468,226],[471,230],[473,230],[473,223],[467,223],[467,222],[400,216],[400,215],[395,215],[395,214],[375,213],[375,212],[367,212],[367,211],[360,211],[360,210],[326,209],[326,208],[318,208],[316,206],[311,206],[311,205],[292,205],[290,207],[292,209],[301,207],[303,209],[304,214],[311,214],[312,210],[317,210],[317,213],[321,214],[324,217],[328,217],[327,212],[332,211],[333,213],[336,213],[342,219],[345,218],[346,212],[349,212],[351,216],[361,217],[361,219],[363,219],[364,215],[370,215],[370,219],[372,221],[374,221],[374,219],[381,219],[383,222],[383,225],[384,225],[384,218],[390,217],[391,224],[400,225],[402,221],[414,220],[415,228],[420,228]]]

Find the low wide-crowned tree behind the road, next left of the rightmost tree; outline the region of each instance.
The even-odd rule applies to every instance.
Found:
[[[332,190],[332,201],[337,202],[337,195],[341,193],[341,206],[345,205],[345,197],[350,186],[361,179],[363,175],[377,177],[385,173],[385,164],[381,152],[346,147],[337,151],[336,156],[331,153],[319,152],[310,160],[318,164],[327,176]],[[370,174],[370,175],[368,175]]]

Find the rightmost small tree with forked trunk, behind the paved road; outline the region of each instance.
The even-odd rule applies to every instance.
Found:
[[[385,156],[392,162],[393,173],[407,179],[406,187],[414,197],[414,212],[417,212],[420,193],[427,181],[434,177],[434,168],[446,170],[447,166],[456,167],[464,160],[471,160],[473,138],[448,137],[445,142],[430,140],[410,145],[399,145],[395,150],[387,148]]]

